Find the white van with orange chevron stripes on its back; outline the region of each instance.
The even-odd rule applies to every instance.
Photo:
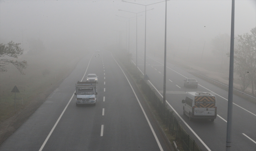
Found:
[[[183,114],[193,118],[214,119],[217,117],[216,97],[207,92],[188,92],[184,103]]]

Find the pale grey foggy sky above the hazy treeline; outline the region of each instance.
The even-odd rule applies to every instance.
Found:
[[[127,1],[143,5],[160,2]],[[1,43],[11,40],[23,42],[24,48],[27,48],[28,40],[40,39],[47,48],[53,43],[58,43],[83,49],[99,45],[117,45],[122,35],[122,46],[127,47],[125,41],[129,33],[128,18],[135,17],[137,12],[145,11],[143,5],[119,0],[1,0],[0,40]],[[149,10],[152,8],[154,9]],[[118,11],[119,9],[135,13]],[[147,48],[162,49],[165,2],[149,5],[147,10]],[[190,39],[195,45],[203,45],[204,41],[210,45],[211,39],[217,35],[230,35],[230,26],[231,0],[167,1],[167,49],[177,47],[178,43],[188,44]],[[235,0],[235,35],[250,33],[254,27],[256,1]],[[138,49],[143,50],[145,12],[138,14],[137,30]],[[121,34],[119,31],[122,31]],[[136,20],[131,18],[131,50],[135,49],[135,42]]]

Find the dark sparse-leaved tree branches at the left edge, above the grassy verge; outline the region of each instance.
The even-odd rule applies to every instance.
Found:
[[[21,74],[24,74],[23,69],[27,67],[27,61],[11,60],[10,57],[18,58],[23,54],[23,49],[19,46],[21,43],[14,43],[10,41],[8,44],[0,44],[0,72],[6,72],[6,65],[13,64]],[[6,56],[6,57],[5,57]]]

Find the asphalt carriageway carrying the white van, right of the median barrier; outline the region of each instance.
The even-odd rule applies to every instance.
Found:
[[[133,62],[136,63],[136,53],[133,53]],[[146,74],[149,77],[148,84],[163,95],[163,59],[155,58],[149,54],[146,58]],[[144,54],[138,53],[137,66],[144,72]],[[183,128],[190,134],[202,150],[225,151],[226,127],[227,127],[227,98],[228,91],[212,85],[194,75],[186,72],[173,64],[166,65],[166,100],[170,108],[175,110]],[[198,88],[184,87],[186,78],[195,78]],[[183,115],[183,104],[186,92],[210,92],[217,99],[217,118],[211,120],[196,119],[190,121]],[[233,118],[232,118],[232,151],[255,151],[256,150],[256,105],[244,98],[233,95]]]

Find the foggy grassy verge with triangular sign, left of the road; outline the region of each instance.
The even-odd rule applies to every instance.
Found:
[[[81,56],[25,56],[29,63],[26,75],[9,67],[0,77],[0,144],[14,133],[46,100],[46,98],[68,77]],[[47,57],[47,59],[45,59]],[[57,63],[56,63],[57,62]],[[16,109],[14,110],[14,93],[17,86]]]

